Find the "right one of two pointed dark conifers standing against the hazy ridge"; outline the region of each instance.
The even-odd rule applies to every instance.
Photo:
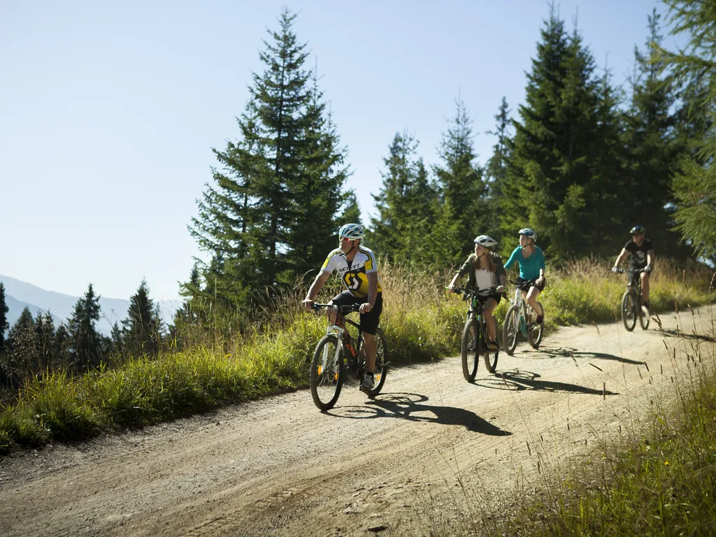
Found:
[[[158,317],[158,305],[149,298],[147,281],[142,279],[139,289],[130,297],[127,319],[122,321],[127,352],[135,356],[158,354],[161,339]]]

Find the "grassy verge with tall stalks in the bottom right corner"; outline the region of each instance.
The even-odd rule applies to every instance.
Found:
[[[687,311],[686,316],[689,316]],[[652,420],[621,431],[586,458],[546,476],[536,499],[490,534],[508,536],[713,535],[716,528],[716,332],[667,345],[672,397]],[[687,330],[684,326],[684,330]],[[687,333],[688,334],[688,333]],[[659,374],[654,372],[654,374]]]

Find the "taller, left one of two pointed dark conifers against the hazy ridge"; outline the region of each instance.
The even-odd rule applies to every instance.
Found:
[[[102,341],[95,328],[100,314],[100,296],[95,295],[95,289],[89,284],[67,319],[71,366],[78,372],[87,372],[102,361]]]

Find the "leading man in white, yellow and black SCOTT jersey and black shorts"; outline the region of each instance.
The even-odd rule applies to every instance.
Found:
[[[315,296],[319,294],[333,271],[338,271],[347,290],[334,296],[329,304],[337,306],[360,304],[359,329],[363,333],[367,366],[360,389],[362,392],[369,392],[373,389],[374,384],[375,332],[383,311],[383,293],[378,278],[375,254],[369,248],[360,246],[363,236],[363,226],[357,223],[347,223],[339,229],[340,246],[328,254],[321,271],[311,284],[303,304],[306,309],[311,309]],[[334,324],[335,313],[330,310],[327,313],[331,323]]]

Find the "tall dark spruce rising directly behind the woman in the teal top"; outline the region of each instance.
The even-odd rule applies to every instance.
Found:
[[[536,228],[553,258],[591,253],[603,238],[592,221],[594,193],[604,188],[594,155],[606,140],[599,130],[600,87],[594,59],[579,32],[566,34],[555,6],[542,30],[520,107],[503,198],[504,233]],[[519,218],[519,215],[523,215]]]

